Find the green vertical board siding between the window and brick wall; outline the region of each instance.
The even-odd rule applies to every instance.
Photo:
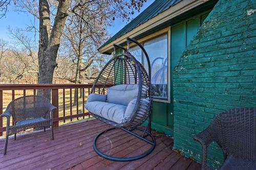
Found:
[[[197,34],[203,20],[209,11],[189,17],[175,25],[170,25],[170,103],[153,102],[152,128],[161,133],[174,136],[174,111],[173,111],[173,74],[175,65],[188,43]]]

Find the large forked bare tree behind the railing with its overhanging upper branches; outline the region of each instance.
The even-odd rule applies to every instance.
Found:
[[[79,16],[91,34],[94,34],[94,25],[88,19],[98,20],[100,24],[114,20],[115,16],[129,20],[134,13],[133,9],[139,11],[145,0],[39,0],[38,4],[34,0],[15,2],[20,10],[30,12],[39,19],[38,83],[52,84],[61,35],[71,13]],[[99,10],[105,12],[99,15]],[[80,11],[84,11],[88,17],[83,18]],[[50,98],[50,92],[47,92],[47,97]]]

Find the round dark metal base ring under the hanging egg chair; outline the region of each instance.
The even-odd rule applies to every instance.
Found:
[[[113,157],[113,156],[109,156],[109,155],[106,155],[104,153],[102,153],[101,151],[98,150],[97,148],[97,139],[102,135],[104,134],[105,132],[108,132],[108,131],[111,131],[111,130],[114,130],[114,129],[121,129],[127,133],[130,133],[131,135],[147,142],[147,143],[150,143],[152,145],[152,147],[150,149],[148,149],[147,151],[145,151],[143,154],[141,155],[138,155],[138,156],[134,156],[134,157],[130,157],[130,158],[117,158],[117,157]],[[139,130],[139,131],[142,131],[143,132],[143,135],[140,136],[134,132],[132,132],[133,130]],[[144,137],[143,137],[144,136]],[[146,139],[146,136],[150,136],[152,141],[151,140],[148,140]],[[144,129],[141,129],[141,128],[131,128],[129,130],[125,129],[125,128],[118,128],[118,127],[113,127],[113,128],[109,128],[109,129],[106,129],[105,131],[102,131],[100,132],[94,139],[94,142],[93,142],[93,148],[94,148],[94,151],[100,155],[101,157],[105,158],[105,159],[109,159],[109,160],[113,160],[113,161],[134,161],[134,160],[138,160],[138,159],[141,159],[147,155],[149,155],[156,147],[156,139],[155,137],[150,133],[150,132],[147,132],[145,131]]]

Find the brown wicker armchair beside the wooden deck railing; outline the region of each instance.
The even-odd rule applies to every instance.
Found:
[[[14,134],[16,140],[16,133],[30,128],[50,127],[53,136],[53,120],[52,110],[56,109],[47,98],[28,95],[13,100],[6,108],[5,112],[1,114],[2,117],[7,118],[6,125],[6,140],[4,155],[6,155],[8,138]],[[14,126],[10,126],[10,118],[14,120]]]

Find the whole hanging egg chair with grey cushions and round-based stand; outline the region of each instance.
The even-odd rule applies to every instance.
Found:
[[[127,38],[127,40],[138,44],[146,54],[143,46],[137,41],[131,38]],[[125,48],[114,44],[114,52],[115,47],[122,48],[125,53],[121,55],[114,53],[113,58],[102,68],[88,96],[86,109],[95,118],[113,126],[95,137],[93,144],[95,152],[103,158],[114,161],[132,161],[147,156],[156,146],[150,128],[152,109],[150,71],[147,74],[143,65]],[[149,62],[148,56],[147,61]],[[150,64],[148,65],[150,66]],[[145,129],[139,128],[147,118],[149,118],[148,125]],[[106,131],[114,129],[121,129],[130,133],[152,144],[152,147],[143,154],[130,158],[106,155],[97,149],[97,139]],[[142,131],[143,134],[139,135],[134,132],[135,130]]]

